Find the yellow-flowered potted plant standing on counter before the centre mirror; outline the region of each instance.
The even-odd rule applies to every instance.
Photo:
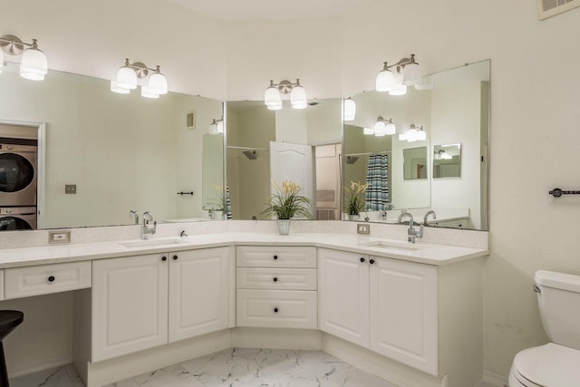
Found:
[[[291,218],[312,218],[310,198],[298,195],[300,186],[294,181],[284,180],[282,188],[273,182],[275,192],[272,193],[266,208],[260,212],[261,217],[278,219],[280,235],[288,235]]]

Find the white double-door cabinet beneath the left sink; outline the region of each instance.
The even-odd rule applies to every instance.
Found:
[[[228,247],[93,262],[92,362],[228,327]]]

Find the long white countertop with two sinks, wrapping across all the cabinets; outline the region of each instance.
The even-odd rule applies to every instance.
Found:
[[[423,243],[420,242],[420,239],[413,245],[407,241],[398,239],[327,233],[295,233],[288,236],[280,236],[275,233],[225,232],[192,235],[181,238],[153,237],[150,240],[155,241],[153,243],[159,242],[160,244],[139,247],[123,246],[126,243],[131,244],[140,241],[140,239],[132,239],[100,243],[1,249],[0,268],[54,264],[119,256],[159,254],[196,248],[236,245],[326,247],[358,254],[389,257],[437,266],[488,255],[487,249]],[[168,244],[163,245],[162,241],[167,241]],[[380,241],[389,246],[364,246],[364,244]]]

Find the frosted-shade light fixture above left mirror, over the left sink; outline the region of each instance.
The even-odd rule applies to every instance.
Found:
[[[167,78],[161,73],[160,66],[150,69],[145,63],[130,63],[129,59],[125,59],[125,64],[117,72],[117,78],[111,81],[111,92],[128,94],[137,89],[138,80],[146,78],[150,72],[149,80],[141,85],[141,96],[160,98],[161,94],[167,94]]]

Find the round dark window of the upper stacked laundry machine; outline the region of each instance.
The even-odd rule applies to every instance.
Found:
[[[34,167],[29,160],[14,153],[0,154],[0,191],[18,192],[34,181]]]

